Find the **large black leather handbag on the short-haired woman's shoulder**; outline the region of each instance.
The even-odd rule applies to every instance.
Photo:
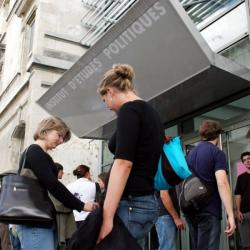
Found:
[[[25,166],[27,151],[24,152],[23,163],[19,164],[18,173],[2,177],[0,221],[48,227],[55,218],[55,209],[47,190],[38,180],[20,175]]]

